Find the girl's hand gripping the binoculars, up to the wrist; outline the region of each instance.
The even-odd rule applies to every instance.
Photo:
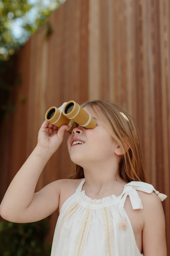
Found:
[[[37,146],[55,152],[63,142],[65,131],[68,128],[69,125],[67,124],[64,124],[58,128],[45,120],[38,132]]]

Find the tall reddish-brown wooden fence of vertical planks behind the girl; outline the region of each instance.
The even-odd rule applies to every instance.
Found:
[[[170,1],[67,0],[48,22],[17,54],[22,86],[15,84],[11,100],[18,111],[0,128],[1,199],[35,148],[48,108],[112,100],[137,124],[148,183],[168,196],[162,205],[170,255]],[[72,168],[64,138],[35,192]],[[57,218],[50,216],[50,244]]]

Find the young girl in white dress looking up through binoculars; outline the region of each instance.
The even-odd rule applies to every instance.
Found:
[[[34,193],[45,164],[69,128],[44,121],[36,148],[5,193],[1,216],[23,223],[59,211],[51,256],[167,256],[161,204],[166,195],[146,183],[134,121],[110,101],[80,106],[97,125],[78,125],[67,138],[74,173]]]

